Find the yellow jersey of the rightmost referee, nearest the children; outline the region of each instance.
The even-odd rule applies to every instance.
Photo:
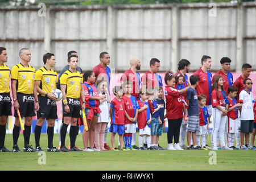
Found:
[[[82,84],[82,74],[78,71],[72,73],[65,71],[60,77],[60,84],[67,85],[66,96],[69,98],[79,98]]]

